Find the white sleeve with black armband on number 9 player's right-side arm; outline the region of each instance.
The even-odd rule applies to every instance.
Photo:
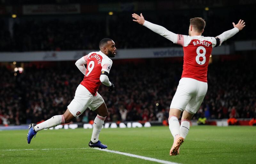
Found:
[[[103,58],[102,61],[101,61],[101,66],[102,66],[102,69],[101,69],[101,73],[103,72],[107,72],[109,74],[109,71],[111,69],[111,66],[112,66],[112,60],[109,59],[109,58]],[[100,82],[106,86],[111,86],[111,82],[109,81],[108,79],[108,76],[106,74],[101,74],[100,75]]]

